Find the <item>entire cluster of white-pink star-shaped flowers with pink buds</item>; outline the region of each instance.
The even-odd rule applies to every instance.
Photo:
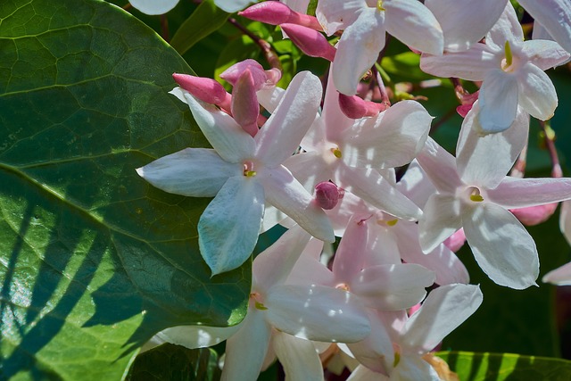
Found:
[[[218,3],[230,12],[247,4]],[[483,300],[454,252],[467,241],[493,282],[534,286],[538,253],[520,220],[571,199],[571,178],[508,176],[530,116],[549,120],[557,107],[543,70],[570,57],[571,6],[520,2],[534,32],[555,42],[524,41],[507,0],[320,0],[316,17],[304,14],[307,3],[264,2],[241,14],[280,25],[304,53],[330,61],[325,91],[308,71],[277,87],[279,70],[252,60],[220,76],[231,94],[213,79],[174,75],[171,94],[212,148],[187,148],[137,172],[166,192],[213,197],[198,224],[212,275],[247,261],[261,232],[288,230],[253,261],[242,323],[171,327],[151,345],[228,340],[223,379],[255,379],[277,358],[289,379],[319,380],[319,353],[335,348],[352,380],[438,380],[426,354]],[[427,73],[480,84],[459,110],[456,156],[428,136],[433,118],[422,104],[356,95],[387,32],[420,54]],[[340,36],[335,46],[326,35]]]

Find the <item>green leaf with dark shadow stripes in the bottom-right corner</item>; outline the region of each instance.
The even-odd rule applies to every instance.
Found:
[[[567,381],[571,361],[511,353],[438,352],[460,381]]]

